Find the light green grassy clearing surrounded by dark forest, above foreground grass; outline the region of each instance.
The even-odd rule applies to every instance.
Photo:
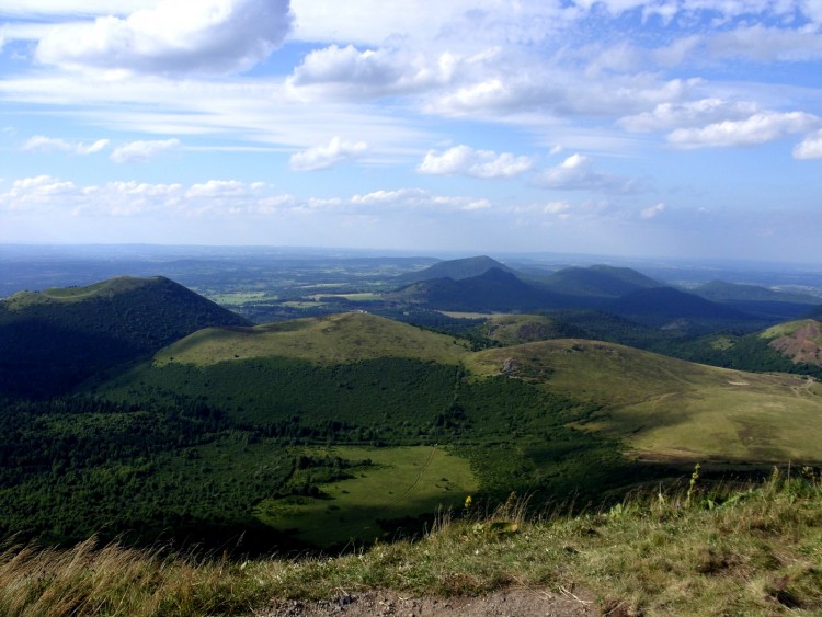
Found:
[[[433,514],[438,507],[459,507],[478,488],[464,458],[431,446],[396,448],[309,448],[311,455],[370,459],[370,468],[356,476],[324,484],[329,499],[286,498],[265,500],[255,509],[258,518],[317,546],[349,540],[369,541],[384,529],[378,521]]]

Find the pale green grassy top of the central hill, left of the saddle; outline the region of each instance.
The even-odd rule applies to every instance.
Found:
[[[282,356],[320,364],[378,357],[408,357],[458,364],[466,349],[452,336],[425,332],[390,319],[341,313],[254,328],[210,328],[195,332],[155,356],[155,365],[205,366],[218,362]]]

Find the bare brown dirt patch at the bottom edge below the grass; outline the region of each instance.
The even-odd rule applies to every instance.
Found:
[[[320,602],[274,601],[256,617],[589,617],[601,615],[590,597],[571,592],[551,594],[541,590],[513,589],[477,597],[406,597],[393,592],[370,591],[359,595],[340,592]]]

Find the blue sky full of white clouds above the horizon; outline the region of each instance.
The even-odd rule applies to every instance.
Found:
[[[822,264],[822,0],[0,0],[0,243]]]

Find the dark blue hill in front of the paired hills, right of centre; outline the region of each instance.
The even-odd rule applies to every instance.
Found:
[[[739,324],[754,320],[742,311],[673,287],[631,292],[604,305],[603,310],[642,324],[680,330],[716,328],[721,322]]]

